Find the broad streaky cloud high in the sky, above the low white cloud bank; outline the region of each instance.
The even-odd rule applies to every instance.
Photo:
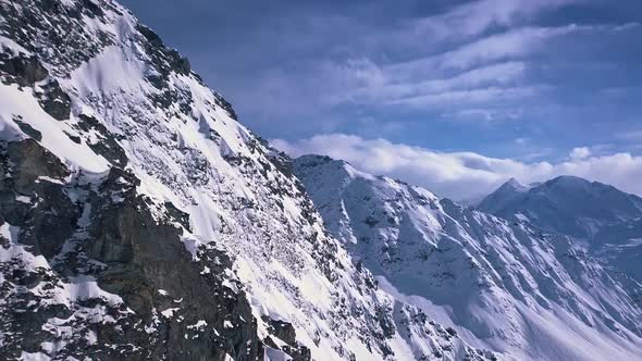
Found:
[[[359,16],[304,16],[296,24],[305,30],[295,32],[292,41],[297,46],[286,49],[313,51],[313,57],[286,59],[250,79],[242,76],[243,84],[230,83],[239,114],[261,126],[288,122],[296,129],[336,132],[348,128],[351,115],[342,112],[355,105],[370,113],[427,112],[442,120],[515,120],[534,99],[555,101],[546,95],[557,82],[538,77],[542,60],[533,57],[551,40],[638,26],[539,27],[531,21],[578,1],[584,0],[471,1],[387,26]],[[264,43],[273,43],[274,36]],[[320,49],[323,57],[317,57]]]

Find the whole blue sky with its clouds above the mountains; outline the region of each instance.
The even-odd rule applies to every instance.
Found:
[[[627,180],[642,176],[640,1],[123,3],[186,54],[244,124],[294,155],[343,155],[459,199],[476,196],[465,191],[471,184],[485,191],[509,175],[561,172],[642,194]],[[408,160],[408,149],[419,155]],[[396,161],[376,165],[384,151]],[[402,170],[441,164],[423,164],[427,154],[455,161],[472,183],[455,186],[454,169]],[[621,154],[632,165],[608,163],[617,177],[578,171]],[[542,164],[550,171],[532,176]]]

